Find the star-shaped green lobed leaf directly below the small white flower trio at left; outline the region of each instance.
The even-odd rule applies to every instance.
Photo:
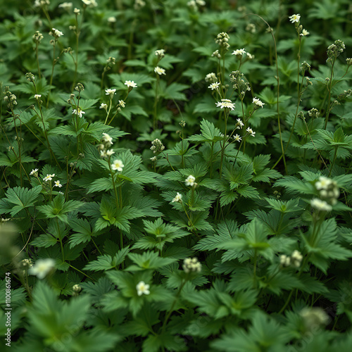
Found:
[[[38,206],[38,210],[43,213],[46,218],[57,218],[65,223],[68,223],[67,214],[70,211],[76,210],[82,206],[80,201],[66,201],[61,194],[56,196],[53,201],[45,206]]]

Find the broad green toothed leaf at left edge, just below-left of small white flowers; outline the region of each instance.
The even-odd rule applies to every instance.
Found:
[[[33,187],[32,189],[27,189],[26,187],[9,188],[5,194],[6,199],[0,200],[0,209],[14,216],[19,213],[20,210],[34,206],[41,191],[41,185]],[[11,207],[11,210],[8,207]]]

